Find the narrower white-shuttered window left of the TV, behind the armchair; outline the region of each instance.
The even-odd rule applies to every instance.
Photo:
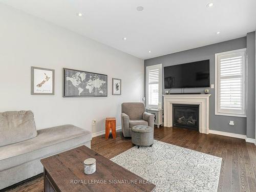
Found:
[[[146,67],[146,107],[157,108],[162,102],[162,64]]]

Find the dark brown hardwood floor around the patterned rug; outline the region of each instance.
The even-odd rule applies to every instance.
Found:
[[[256,146],[244,139],[201,134],[180,128],[155,127],[154,138],[206,154],[222,157],[218,191],[256,191]],[[105,140],[104,135],[93,138],[92,150],[112,158],[134,145],[131,138],[117,132],[116,139]],[[37,176],[8,191],[44,191],[42,176]]]

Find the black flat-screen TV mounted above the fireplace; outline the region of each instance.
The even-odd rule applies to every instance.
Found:
[[[210,60],[164,67],[164,89],[210,87]]]

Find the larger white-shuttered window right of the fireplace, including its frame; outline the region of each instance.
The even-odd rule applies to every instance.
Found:
[[[246,117],[246,49],[215,54],[215,114]]]

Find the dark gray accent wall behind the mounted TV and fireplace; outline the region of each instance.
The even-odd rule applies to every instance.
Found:
[[[246,41],[246,37],[241,37],[241,38],[237,38],[237,39],[233,39],[233,40],[219,42],[218,44],[212,44],[209,46],[204,46],[204,47],[200,47],[200,48],[181,51],[178,53],[172,53],[172,54],[168,54],[168,55],[164,55],[164,56],[160,56],[160,57],[146,59],[146,60],[144,60],[144,68],[146,69],[147,66],[156,65],[159,63],[162,63],[162,66],[166,67],[166,66],[178,65],[178,64],[187,63],[187,62],[210,59],[210,84],[215,84],[215,54],[220,53],[220,52],[225,52],[225,51],[243,49],[243,48],[246,48],[247,44],[248,44],[248,42]],[[255,40],[254,40],[254,44],[255,44]],[[254,49],[255,49],[255,45],[254,45]],[[253,50],[251,52],[253,52]],[[255,51],[254,51],[254,59],[255,59]],[[254,65],[255,65],[255,60],[254,60]],[[145,69],[144,69],[144,73],[146,72]],[[252,112],[251,116],[255,117],[255,66],[254,66],[254,70],[251,73],[253,73],[254,76],[252,78],[253,82],[250,83],[250,88],[251,88],[251,92],[253,92],[254,95],[251,94],[249,99],[252,99],[252,97],[254,96],[254,98],[252,99],[254,104],[252,104],[253,109],[250,109],[250,111],[254,110],[254,112]],[[145,79],[145,77],[146,77],[146,74],[144,74],[144,79]],[[248,81],[250,81],[250,80],[251,80],[250,76],[248,76]],[[164,82],[163,74],[162,74],[162,82]],[[146,82],[144,80],[144,86],[145,86],[145,84],[146,84]],[[204,93],[204,89],[205,88],[196,88],[196,89],[195,88],[185,88],[184,92]],[[146,89],[144,89],[144,91],[145,90]],[[231,116],[215,115],[215,89],[209,89],[209,90],[210,90],[210,94],[211,94],[210,101],[209,101],[209,107],[210,107],[209,127],[210,127],[210,130],[246,135],[247,120],[245,117],[231,117]],[[162,83],[162,93],[164,94],[165,91],[167,91],[167,90],[164,89],[164,83]],[[172,89],[171,92],[181,93],[181,89]],[[251,117],[249,121],[252,122],[253,121],[252,119],[253,118]],[[230,120],[234,121],[233,126],[229,125]],[[251,123],[251,127],[255,130],[255,126],[253,126],[253,122]],[[254,132],[250,131],[249,133],[250,133],[249,137],[254,138],[254,135],[255,135],[255,134],[253,135]]]

